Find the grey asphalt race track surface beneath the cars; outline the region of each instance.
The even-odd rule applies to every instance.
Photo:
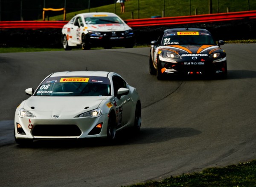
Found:
[[[148,73],[149,48],[0,54],[0,185],[118,187],[256,159],[256,44],[225,44],[228,79]],[[13,137],[25,89],[56,71],[114,71],[137,88],[142,129],[101,140]]]

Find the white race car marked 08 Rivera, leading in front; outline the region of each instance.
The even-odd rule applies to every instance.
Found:
[[[15,112],[15,140],[105,137],[141,126],[141,103],[136,88],[118,74],[67,71],[50,74]]]

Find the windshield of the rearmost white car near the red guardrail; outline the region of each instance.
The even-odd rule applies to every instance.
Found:
[[[118,17],[105,16],[105,17],[84,17],[86,24],[107,24],[107,23],[123,23]]]

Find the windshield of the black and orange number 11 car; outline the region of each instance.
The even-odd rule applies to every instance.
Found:
[[[175,31],[163,36],[161,45],[216,45],[208,32]]]

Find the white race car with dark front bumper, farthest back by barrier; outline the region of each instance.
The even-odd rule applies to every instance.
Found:
[[[134,32],[120,17],[108,12],[77,14],[62,28],[62,43],[65,50],[81,45],[111,48],[122,46],[132,48]]]

